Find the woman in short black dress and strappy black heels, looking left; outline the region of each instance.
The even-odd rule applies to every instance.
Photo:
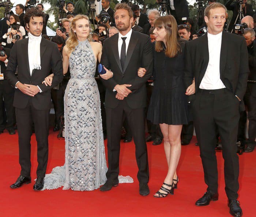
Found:
[[[168,173],[160,190],[154,197],[166,197],[177,188],[176,168],[181,154],[182,124],[188,124],[189,113],[186,94],[194,93],[189,86],[185,94],[183,84],[185,40],[178,34],[178,27],[172,15],[155,20],[156,42],[154,44],[154,90],[148,108],[147,119],[160,124]],[[144,68],[138,70],[143,75]]]

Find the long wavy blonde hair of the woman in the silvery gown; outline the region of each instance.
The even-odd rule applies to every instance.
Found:
[[[86,15],[76,15],[75,18],[71,21],[70,23],[70,31],[68,34],[68,39],[66,42],[66,46],[68,48],[68,55],[71,54],[74,50],[75,47],[78,45],[78,39],[76,36],[76,33],[73,31],[73,29],[75,29],[76,27],[76,21],[80,20],[80,19],[86,19],[89,22],[89,26],[90,26],[90,20]],[[91,26],[90,26],[90,32],[91,32]],[[91,35],[89,34],[87,39],[90,41],[91,40]]]

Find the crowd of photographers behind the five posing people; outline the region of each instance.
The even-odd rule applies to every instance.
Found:
[[[217,0],[209,0],[208,4],[212,4]],[[56,36],[51,40],[55,42],[59,47],[60,53],[65,45],[68,38],[68,33],[70,31],[70,22],[75,17],[75,5],[71,2],[65,4],[65,1],[60,2],[60,13],[59,28],[56,30]],[[200,2],[200,0],[197,0]],[[163,12],[171,14],[177,21],[178,33],[181,38],[185,40],[195,40],[196,38],[202,36],[207,32],[207,27],[202,21],[201,23],[194,23],[191,18],[189,18],[188,5],[186,0],[157,0],[157,3],[161,5],[161,10],[150,9],[146,13],[142,13],[139,5],[131,5],[133,11],[133,31],[138,31],[143,34],[147,34],[151,38],[151,42],[155,41],[154,23],[155,20],[163,15]],[[8,64],[8,57],[10,54],[10,49],[16,40],[21,40],[27,35],[29,31],[24,24],[24,15],[28,8],[36,4],[35,0],[26,0],[25,5],[17,4],[15,7],[15,13],[10,13],[9,18],[5,18],[0,21],[1,34],[0,42],[0,134],[3,133],[4,129],[7,129],[10,135],[15,134],[15,110],[12,106],[12,101],[14,97],[14,88],[12,88],[7,80],[3,77],[3,73],[6,70]],[[200,3],[199,3],[200,4]],[[114,11],[110,8],[110,0],[102,0],[102,11],[91,19],[91,23],[97,25],[97,28],[92,32],[92,38],[95,42],[104,43],[104,40],[108,37],[113,36],[118,33],[117,28],[114,23]],[[36,7],[40,10],[44,10],[44,5],[37,4]],[[244,149],[245,152],[251,152],[254,150],[256,145],[256,51],[255,51],[255,31],[256,31],[256,16],[252,9],[252,5],[247,3],[247,0],[230,0],[227,1],[226,7],[228,10],[233,11],[233,17],[227,28],[227,31],[233,32],[234,34],[239,34],[244,36],[249,55],[249,67],[250,75],[248,78],[248,88],[244,97],[244,102],[247,106],[247,112],[241,113],[239,130],[238,130],[238,143]],[[240,9],[239,9],[240,7]],[[240,19],[241,15],[241,20]],[[46,24],[49,19],[49,15],[45,14]],[[238,19],[237,19],[238,18]],[[46,24],[44,26],[42,36],[45,38],[49,37],[46,34]],[[95,26],[96,26],[95,25]],[[50,39],[49,39],[50,40]],[[52,89],[52,101],[55,111],[55,126],[53,131],[59,131],[58,138],[63,138],[64,132],[64,104],[63,97],[65,93],[65,88],[67,82],[70,78],[69,72],[64,75],[63,81],[56,87]],[[102,112],[102,124],[103,124],[103,134],[106,137],[106,114],[105,114],[105,87],[98,80],[98,74],[95,74],[95,78],[98,83],[100,99],[101,99],[101,112]],[[154,88],[153,79],[147,82],[147,94],[148,103],[150,101],[152,89]],[[248,140],[245,136],[246,119],[249,120],[248,126]],[[132,135],[128,127],[128,124],[123,120],[123,139],[124,142],[131,142]],[[153,141],[153,145],[158,145],[162,143],[163,135],[159,128],[159,125],[155,125],[147,121],[147,128],[149,135],[146,138],[147,142]],[[184,125],[182,128],[182,144],[186,145],[191,142],[193,136],[193,122],[191,121],[188,125]],[[218,135],[217,135],[218,136]],[[247,143],[247,144],[245,144]],[[217,144],[217,148],[221,149],[221,144]]]

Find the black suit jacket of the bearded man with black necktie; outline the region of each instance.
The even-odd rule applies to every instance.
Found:
[[[118,34],[105,40],[102,49],[101,64],[111,69],[113,77],[102,80],[106,86],[105,106],[116,108],[120,100],[116,99],[113,89],[117,84],[131,84],[132,91],[124,100],[130,108],[146,107],[146,82],[153,72],[153,51],[149,36],[132,31],[131,39],[125,58],[124,70],[122,70],[118,53]],[[144,67],[147,72],[144,77],[138,76],[138,68]]]

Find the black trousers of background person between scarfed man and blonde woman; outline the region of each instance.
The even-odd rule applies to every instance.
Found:
[[[60,125],[60,116],[64,115],[64,95],[68,81],[63,80],[59,85],[59,90],[51,89],[52,102],[55,112],[55,124]]]

